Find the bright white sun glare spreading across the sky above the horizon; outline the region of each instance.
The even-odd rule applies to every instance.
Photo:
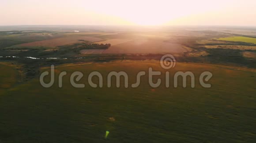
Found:
[[[118,5],[118,7],[115,5]],[[106,6],[108,7],[107,9]],[[126,3],[110,0],[103,2],[103,4],[97,7],[90,7],[90,10],[99,14],[116,16],[134,25],[164,25],[177,18],[218,10],[220,8],[221,6],[217,3],[209,6],[207,2],[202,0],[180,0],[175,1],[175,3],[172,0],[131,0]]]

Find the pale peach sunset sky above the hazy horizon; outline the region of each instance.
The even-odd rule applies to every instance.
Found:
[[[256,26],[256,0],[0,0],[0,25]]]

